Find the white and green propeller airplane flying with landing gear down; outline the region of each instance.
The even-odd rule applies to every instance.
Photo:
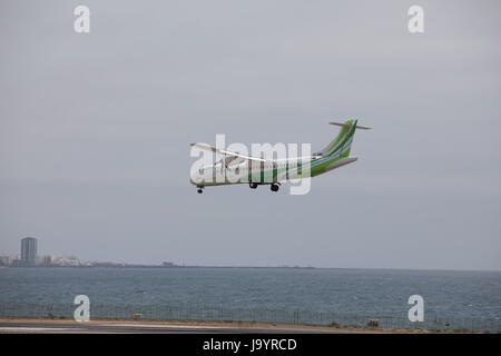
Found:
[[[357,121],[350,119],[346,122],[328,122],[341,127],[338,135],[323,150],[308,157],[264,159],[222,150],[205,144],[191,144],[191,147],[225,157],[212,166],[194,170],[189,180],[197,187],[198,194],[202,194],[203,189],[208,186],[235,184],[248,184],[252,189],[256,189],[261,185],[271,185],[272,191],[278,191],[283,181],[306,178],[306,175],[303,175],[303,167],[306,167],[306,164],[310,165],[310,175],[307,176],[310,178],[356,161],[357,157],[350,157],[355,130],[371,129],[358,126]],[[223,181],[216,180],[217,174],[224,174],[222,175]],[[232,174],[233,178],[228,179],[226,174]],[[210,179],[205,179],[207,177]]]

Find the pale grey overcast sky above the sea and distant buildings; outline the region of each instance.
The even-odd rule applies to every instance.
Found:
[[[499,270],[500,33],[499,1],[1,1],[0,253]],[[190,142],[347,118],[358,161],[308,195],[189,184]]]

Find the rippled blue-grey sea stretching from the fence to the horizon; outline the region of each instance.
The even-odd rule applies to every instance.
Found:
[[[91,306],[299,310],[402,319],[412,307],[409,297],[421,295],[428,320],[501,319],[500,271],[0,268],[3,314],[12,304],[72,305],[76,295],[87,295]]]

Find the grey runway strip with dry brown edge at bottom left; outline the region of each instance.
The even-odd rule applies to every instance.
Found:
[[[249,327],[141,322],[0,320],[0,334],[345,334],[325,327]]]

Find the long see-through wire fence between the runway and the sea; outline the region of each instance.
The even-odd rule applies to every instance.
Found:
[[[73,318],[73,304],[0,304],[0,317]],[[298,309],[230,308],[216,306],[161,305],[95,305],[90,304],[92,319],[149,319],[149,320],[215,320],[258,322],[271,324],[325,325],[333,327],[407,328],[430,330],[501,332],[499,318],[442,318],[425,317],[411,323],[406,316],[354,315],[334,312]]]

